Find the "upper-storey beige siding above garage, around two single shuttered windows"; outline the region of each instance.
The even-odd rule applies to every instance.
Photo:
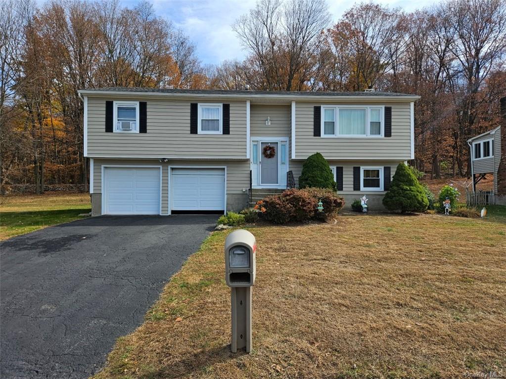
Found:
[[[106,100],[147,102],[147,133],[106,133]],[[88,98],[88,156],[245,158],[246,102],[230,104],[230,134],[190,134],[190,103],[198,100]],[[200,101],[200,103],[210,101]]]

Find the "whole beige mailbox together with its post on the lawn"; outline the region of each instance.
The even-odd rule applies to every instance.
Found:
[[[255,284],[257,242],[247,230],[235,230],[225,240],[225,281],[232,304],[230,350],[251,351],[251,286]]]

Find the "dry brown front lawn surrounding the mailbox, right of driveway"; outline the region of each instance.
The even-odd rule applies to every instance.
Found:
[[[214,233],[120,338],[104,378],[448,378],[506,371],[501,223],[340,216],[254,227],[254,351],[231,354],[223,242]]]

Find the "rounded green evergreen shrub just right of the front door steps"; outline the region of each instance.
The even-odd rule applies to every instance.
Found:
[[[302,164],[302,173],[299,176],[299,187],[328,188],[338,190],[334,175],[330,171],[328,162],[320,153],[309,156]]]

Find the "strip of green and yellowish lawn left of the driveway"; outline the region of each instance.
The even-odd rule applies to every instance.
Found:
[[[49,193],[2,197],[0,241],[82,218],[91,211],[90,194]]]

